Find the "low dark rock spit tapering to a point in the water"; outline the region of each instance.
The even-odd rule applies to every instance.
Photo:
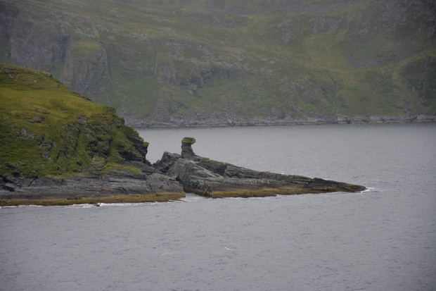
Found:
[[[189,145],[188,148],[191,149],[192,143],[183,144],[185,146],[182,145],[181,155],[165,152],[154,166],[158,173],[179,181],[186,192],[216,198],[365,190],[363,186],[344,182],[253,171],[230,163],[186,155],[186,147]]]

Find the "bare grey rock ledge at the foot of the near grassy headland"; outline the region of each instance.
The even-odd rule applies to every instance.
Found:
[[[134,162],[130,162],[134,163]],[[135,166],[141,166],[135,164]],[[73,199],[76,197],[108,197],[113,195],[179,193],[183,188],[173,178],[146,164],[143,171],[132,166],[103,168],[98,163],[86,172],[66,178],[15,178],[0,175],[1,199]]]

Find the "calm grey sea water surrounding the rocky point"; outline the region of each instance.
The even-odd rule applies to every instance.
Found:
[[[0,209],[0,290],[436,290],[436,123],[139,129],[180,152],[368,187]]]

